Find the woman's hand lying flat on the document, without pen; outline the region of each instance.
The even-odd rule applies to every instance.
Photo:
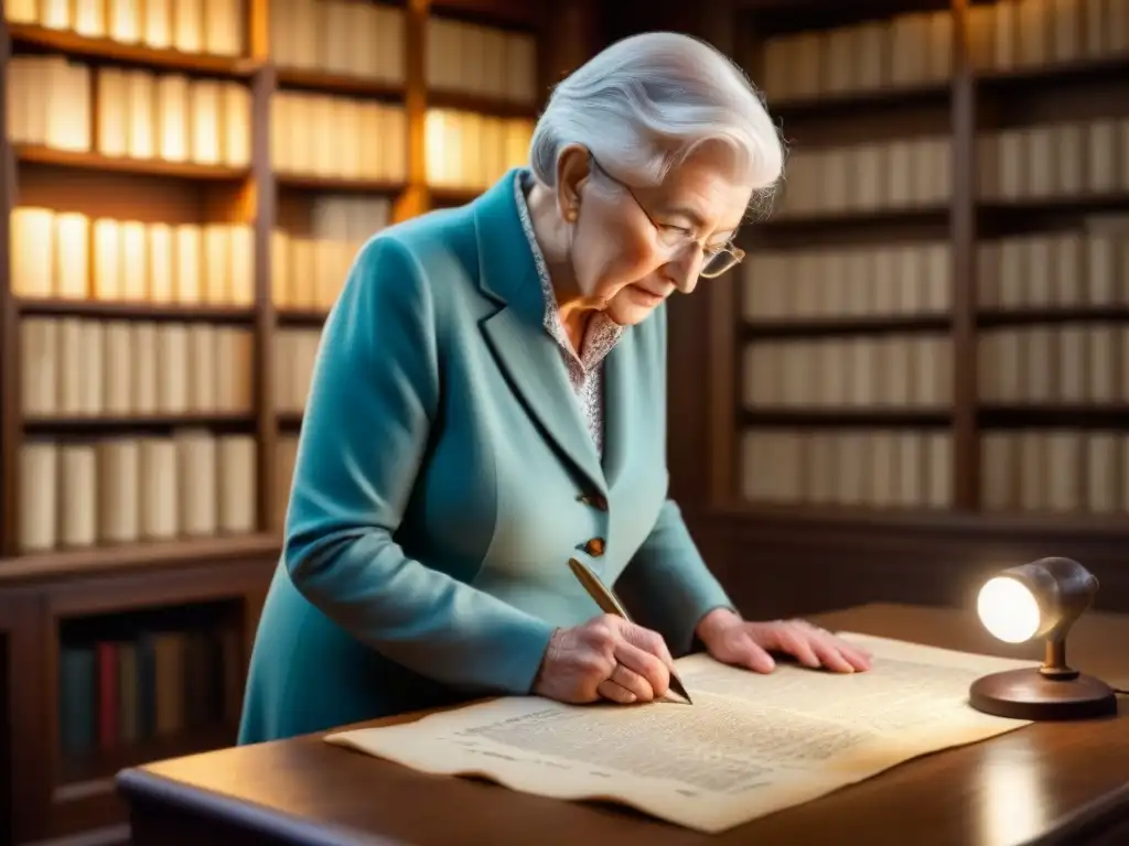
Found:
[[[717,661],[756,672],[771,672],[769,652],[795,656],[804,667],[832,672],[870,669],[870,654],[830,632],[800,619],[749,623],[733,611],[716,608],[698,624],[697,634]]]

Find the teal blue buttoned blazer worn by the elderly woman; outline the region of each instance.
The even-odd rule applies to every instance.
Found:
[[[665,311],[605,360],[601,459],[542,323],[516,174],[382,231],[350,271],[240,742],[530,693],[553,628],[599,614],[569,556],[634,597],[675,654],[732,607],[667,499]]]

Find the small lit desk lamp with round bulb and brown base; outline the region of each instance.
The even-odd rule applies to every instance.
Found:
[[[1118,711],[1113,688],[1067,666],[1066,635],[1094,601],[1097,579],[1069,558],[1010,567],[980,589],[977,613],[1005,643],[1045,640],[1042,667],[1008,670],[972,682],[972,707],[1016,720],[1083,720]]]

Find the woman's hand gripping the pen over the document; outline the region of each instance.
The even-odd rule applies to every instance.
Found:
[[[650,702],[666,694],[673,666],[660,634],[605,614],[553,633],[533,693],[571,704]]]

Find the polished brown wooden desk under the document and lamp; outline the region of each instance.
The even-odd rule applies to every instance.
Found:
[[[951,649],[1000,649],[971,615],[865,606],[822,615],[840,631]],[[1129,687],[1129,617],[1091,614],[1071,662]],[[707,836],[609,807],[558,802],[467,778],[436,777],[318,737],[225,749],[123,772],[135,846],[238,843],[1129,844],[1129,706],[1117,719],[1034,724],[912,760],[829,796]]]

